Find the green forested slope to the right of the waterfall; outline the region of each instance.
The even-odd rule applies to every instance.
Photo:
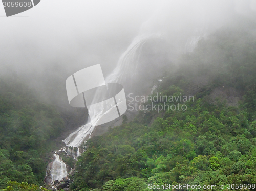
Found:
[[[168,110],[152,124],[156,111],[141,112],[132,122],[90,139],[76,164],[73,190],[255,184],[255,37],[228,29],[216,32],[200,41],[194,53],[183,55],[179,68],[165,75],[157,91],[179,95],[200,75],[209,83],[194,102],[185,103],[186,111]],[[244,95],[238,107],[209,102],[208,95],[219,86]]]

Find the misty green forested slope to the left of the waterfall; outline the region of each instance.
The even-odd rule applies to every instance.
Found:
[[[59,113],[18,79],[1,79],[0,189],[9,181],[42,184],[46,155],[63,126]]]

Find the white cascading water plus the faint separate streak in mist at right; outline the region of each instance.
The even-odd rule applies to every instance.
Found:
[[[106,77],[105,82],[106,83],[125,83],[127,79],[133,78],[134,75],[136,75],[137,67],[139,65],[139,58],[141,54],[141,50],[143,45],[152,38],[159,38],[161,37],[160,32],[148,32],[145,31],[147,28],[147,25],[151,25],[151,20],[154,20],[154,17],[150,18],[150,20],[143,23],[141,27],[140,34],[134,38],[132,43],[129,45],[127,50],[120,56],[116,68],[113,70],[113,73],[111,73],[109,76]],[[192,52],[194,48],[196,47],[198,41],[204,37],[205,32],[202,33],[202,31],[196,32],[193,35],[191,35],[187,40],[186,44],[183,44],[183,47],[185,46],[185,53],[186,52]],[[154,88],[152,89],[152,92],[154,91]],[[151,92],[151,93],[152,93]],[[101,94],[96,93],[95,99],[99,97]],[[95,126],[97,126],[97,122],[100,120],[100,118],[104,115],[105,112],[108,112],[111,108],[108,108],[107,111],[101,111],[99,112],[98,108],[90,107],[90,110],[94,110],[95,112],[93,116],[91,116],[90,119],[88,119],[87,123],[81,127],[79,127],[75,132],[71,133],[63,142],[65,142],[66,147],[62,148],[61,151],[64,151],[69,156],[73,156],[74,159],[77,159],[77,157],[80,155],[79,147],[84,144],[88,139],[91,138],[91,134],[93,133]],[[77,152],[74,152],[70,147],[77,147]],[[51,174],[51,182],[54,182],[55,180],[61,180],[62,178],[67,176],[67,166],[66,164],[61,160],[61,158],[58,156],[57,153],[54,154],[55,160],[49,164],[48,170],[50,170]]]

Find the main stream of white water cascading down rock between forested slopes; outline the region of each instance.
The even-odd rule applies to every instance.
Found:
[[[138,57],[143,44],[147,41],[147,39],[159,36],[159,34],[137,36],[128,47],[128,49],[121,55],[117,67],[114,69],[113,73],[106,77],[106,83],[118,83],[119,81],[124,80],[127,76],[131,75],[126,74],[125,71],[136,70],[138,64]],[[136,54],[138,54],[138,56]],[[133,68],[129,68],[131,67],[131,63],[135,63],[132,66]],[[95,99],[97,99],[97,96],[100,96],[100,93],[96,94]],[[105,112],[108,112],[110,109],[111,108],[109,108]],[[80,155],[79,147],[84,144],[86,140],[91,138],[91,134],[94,131],[97,122],[100,120],[100,117],[103,116],[103,114],[105,113],[103,112],[103,110],[102,112],[98,112],[98,108],[90,107],[90,110],[95,110],[95,114],[93,115],[93,117],[89,119],[85,125],[79,127],[75,132],[71,133],[65,140],[63,140],[68,149],[66,149],[65,147],[58,151],[66,152],[67,155],[73,156],[74,159],[76,159]],[[74,152],[69,147],[77,147],[78,151]],[[51,182],[54,182],[55,180],[61,180],[62,178],[65,178],[68,174],[66,164],[61,160],[57,153],[55,153],[54,156],[55,160],[48,165],[48,171],[50,170],[51,174]]]

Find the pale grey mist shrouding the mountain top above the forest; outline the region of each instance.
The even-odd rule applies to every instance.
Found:
[[[107,77],[136,36],[156,35],[163,54],[154,52],[155,42],[145,47],[153,54],[153,67],[160,60],[166,66],[191,49],[185,47],[189,38],[207,38],[226,25],[243,27],[240,24],[252,20],[255,10],[254,1],[45,0],[6,18],[0,6],[0,74],[14,75],[46,101],[69,107],[67,77],[95,64],[101,64]],[[142,55],[142,70],[148,62]],[[135,79],[146,75],[144,71]]]

